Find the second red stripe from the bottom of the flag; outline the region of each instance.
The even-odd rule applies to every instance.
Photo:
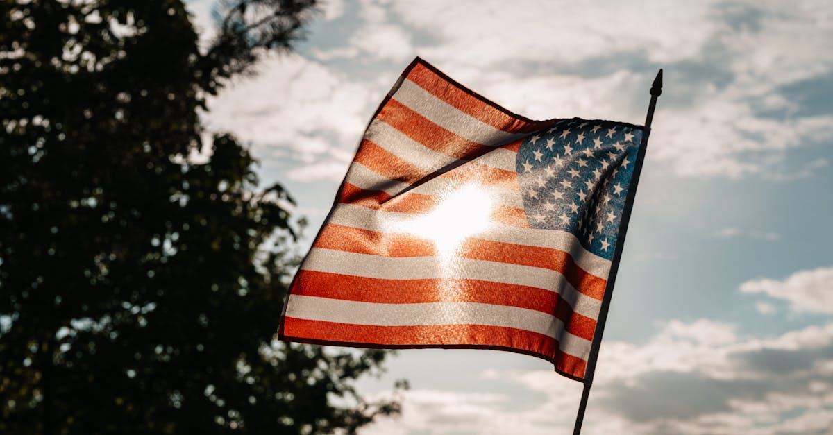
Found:
[[[596,331],[596,320],[574,313],[558,293],[476,279],[380,279],[301,270],[292,294],[364,303],[490,303],[555,313],[568,333],[586,340]]]

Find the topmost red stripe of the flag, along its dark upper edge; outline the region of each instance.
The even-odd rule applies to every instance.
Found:
[[[438,76],[436,72],[423,65],[415,65],[408,73],[407,79],[431,92],[442,101],[456,107],[461,112],[465,112],[471,117],[505,132],[528,133],[536,128],[541,128],[541,125],[545,123],[538,121],[526,122],[519,117],[512,117],[484,102],[481,98],[475,97],[470,91],[448,82],[444,77]]]

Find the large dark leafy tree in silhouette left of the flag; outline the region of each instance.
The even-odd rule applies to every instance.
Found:
[[[273,341],[299,228],[199,110],[313,0],[2,2],[0,433],[354,432],[381,351]],[[288,103],[288,102],[287,102]],[[192,154],[210,148],[196,163]],[[342,398],[342,399],[339,399]]]

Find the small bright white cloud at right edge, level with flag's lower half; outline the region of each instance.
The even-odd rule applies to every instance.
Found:
[[[793,273],[783,281],[761,278],[741,284],[743,293],[784,299],[796,313],[833,313],[833,268]]]

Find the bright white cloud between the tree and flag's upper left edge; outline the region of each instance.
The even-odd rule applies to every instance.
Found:
[[[259,158],[297,161],[296,174],[316,164],[311,174],[335,179],[324,168],[341,164],[343,169],[342,161],[352,158],[372,100],[381,98],[373,87],[299,55],[270,57],[257,76],[237,79],[208,102],[206,124],[210,131],[231,131],[252,143]]]

